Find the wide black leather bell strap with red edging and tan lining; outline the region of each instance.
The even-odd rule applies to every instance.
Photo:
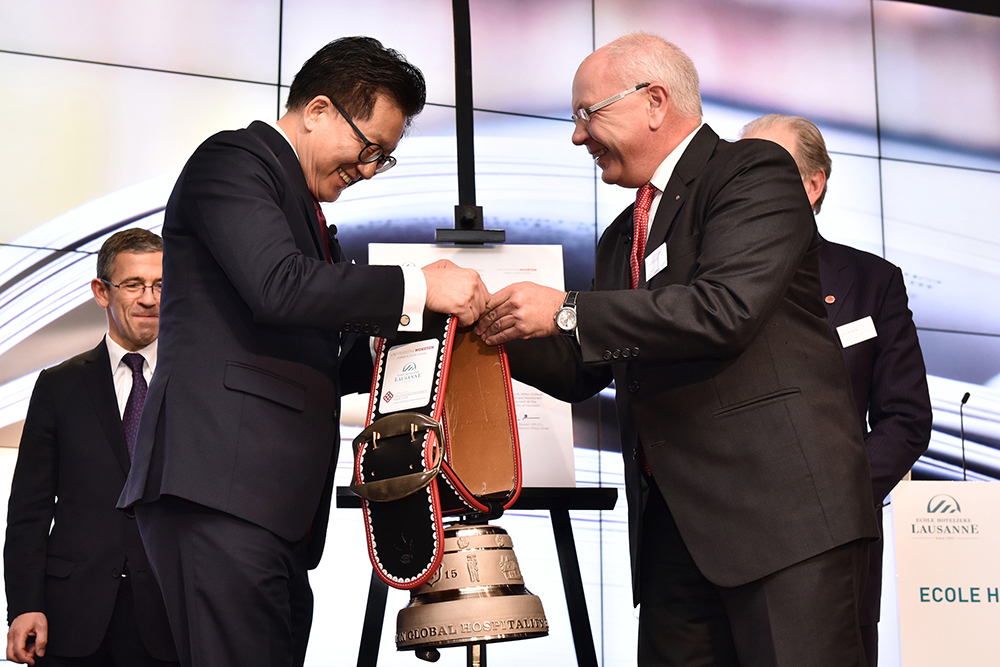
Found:
[[[351,488],[372,566],[410,589],[441,563],[443,516],[502,512],[520,492],[510,371],[502,347],[435,314],[419,334],[380,341],[377,356]]]

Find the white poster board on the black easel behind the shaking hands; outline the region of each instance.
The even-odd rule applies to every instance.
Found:
[[[562,246],[558,245],[372,243],[368,246],[369,264],[421,267],[439,259],[476,269],[490,292],[525,280],[563,289]],[[512,384],[521,442],[522,485],[576,486],[570,405],[516,380]]]

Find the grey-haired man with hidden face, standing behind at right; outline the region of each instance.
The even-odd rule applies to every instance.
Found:
[[[769,139],[791,154],[813,212],[818,214],[832,167],[819,128],[805,118],[770,114],[748,123],[743,137]],[[851,373],[881,526],[886,496],[930,443],[933,415],[917,328],[899,267],[871,253],[821,239],[819,273],[827,317]],[[882,546],[881,540],[872,545],[861,605],[868,667],[878,664]]]

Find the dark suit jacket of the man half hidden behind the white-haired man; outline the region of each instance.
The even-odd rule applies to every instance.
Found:
[[[874,338],[843,348],[843,353],[858,421],[865,430],[874,497],[881,505],[930,442],[931,399],[917,328],[898,267],[826,240],[820,245],[819,260],[823,294],[834,298],[826,306],[830,326],[836,329],[869,316],[875,325]],[[872,545],[862,624],[878,621],[881,592],[882,543],[878,542]]]

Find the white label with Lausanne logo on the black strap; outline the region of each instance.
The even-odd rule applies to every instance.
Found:
[[[389,350],[379,412],[388,414],[412,410],[430,403],[440,345],[440,341],[432,338]]]

